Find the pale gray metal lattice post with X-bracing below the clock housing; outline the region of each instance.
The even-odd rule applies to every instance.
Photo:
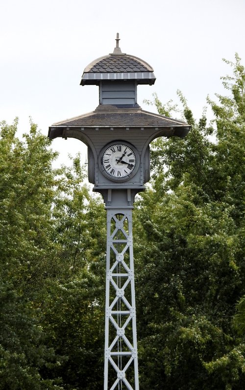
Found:
[[[104,390],[116,388],[139,390],[130,208],[107,209]]]

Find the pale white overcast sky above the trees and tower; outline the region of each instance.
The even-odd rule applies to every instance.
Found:
[[[29,116],[44,134],[57,121],[93,111],[98,87],[80,86],[84,68],[113,52],[147,61],[153,86],[138,87],[138,104],[156,92],[177,102],[180,89],[198,118],[206,96],[224,93],[220,77],[231,73],[222,58],[245,63],[245,0],[0,0],[0,120],[19,131]],[[83,144],[57,138],[66,161]]]

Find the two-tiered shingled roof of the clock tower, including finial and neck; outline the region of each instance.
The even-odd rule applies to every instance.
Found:
[[[190,130],[187,123],[144,111],[137,104],[136,84],[153,84],[155,79],[147,62],[122,53],[117,34],[114,52],[92,61],[85,68],[81,80],[82,85],[99,85],[100,104],[93,112],[54,123],[49,127],[49,138],[65,136],[67,131],[77,135],[80,132],[85,134],[87,130],[90,133],[93,129],[105,130],[106,133],[108,129],[136,128],[148,129],[156,136],[185,137]]]

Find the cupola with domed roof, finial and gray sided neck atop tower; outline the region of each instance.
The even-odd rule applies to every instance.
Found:
[[[98,85],[99,104],[137,107],[137,85],[152,85],[156,78],[146,61],[122,53],[119,41],[117,33],[114,52],[92,61],[84,69],[80,85]]]

